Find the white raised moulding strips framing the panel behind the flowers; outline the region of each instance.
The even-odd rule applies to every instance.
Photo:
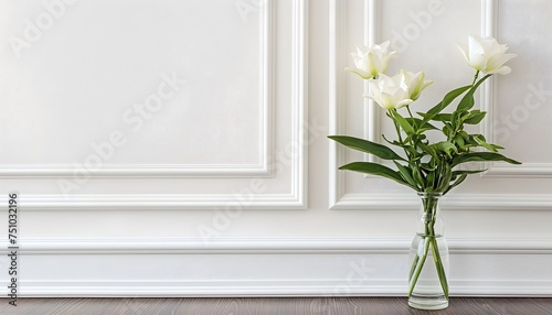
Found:
[[[376,42],[378,25],[378,0],[364,0],[364,30],[367,44]],[[496,33],[496,0],[485,0],[482,2],[481,33],[482,35],[493,35]],[[330,1],[330,134],[343,134],[346,126],[344,107],[346,104],[346,80],[343,68],[346,67],[346,55],[342,47],[346,42],[347,1]],[[484,110],[492,111],[495,87],[491,83],[484,84],[481,89],[481,105]],[[368,123],[365,134],[372,141],[379,141],[380,123],[376,106],[368,106],[365,121]],[[492,120],[488,119],[482,126],[481,133],[487,139],[492,139],[490,127]],[[370,159],[370,158],[369,158]],[[331,141],[329,143],[329,206],[331,209],[404,209],[404,207],[416,208],[418,206],[415,196],[412,194],[348,194],[346,189],[346,174],[338,171],[338,167],[346,162],[346,154],[342,148]],[[527,163],[510,166],[506,163],[492,163],[487,165],[487,171],[481,176],[517,176],[517,177],[548,177],[552,175],[552,167],[549,163]],[[371,178],[371,177],[369,177]],[[447,209],[479,208],[485,210],[552,210],[552,197],[548,195],[517,194],[517,195],[492,195],[492,194],[464,194],[446,196]]]

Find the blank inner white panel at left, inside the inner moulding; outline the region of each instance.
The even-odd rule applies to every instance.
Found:
[[[53,3],[3,4],[4,175],[268,172],[272,2]]]

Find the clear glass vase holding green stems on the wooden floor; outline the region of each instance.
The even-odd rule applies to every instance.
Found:
[[[411,250],[408,305],[420,309],[448,307],[448,247],[443,236],[440,193],[418,193],[420,228]]]

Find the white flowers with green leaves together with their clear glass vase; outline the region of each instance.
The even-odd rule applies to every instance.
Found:
[[[474,95],[478,87],[495,74],[509,74],[511,69],[505,64],[516,55],[507,54],[508,47],[492,37],[469,36],[468,46],[460,46],[460,51],[476,70],[471,84],[445,94],[429,110],[414,115],[412,104],[433,82],[425,80],[423,72],[401,70],[394,76],[385,75],[395,55],[395,52],[389,51],[389,44],[388,41],[372,47],[358,47],[352,54],[357,68],[347,70],[368,80],[369,90],[364,96],[386,110],[386,117],[395,127],[396,138],[383,134],[386,144],[348,135],[329,138],[347,148],[388,161],[352,162],[339,170],[386,177],[416,191],[422,197],[422,226],[411,249],[408,302],[417,308],[445,308],[448,306],[448,251],[445,249],[442,252],[446,242],[442,238],[437,202],[468,175],[486,171],[459,169],[464,163],[503,161],[521,164],[500,154],[499,150],[503,148],[487,142],[482,134],[465,130],[467,124],[480,123],[487,115],[474,109]],[[457,99],[459,101],[455,101]],[[447,112],[450,107],[454,110]],[[432,142],[428,134],[432,139],[438,135],[440,140]],[[431,280],[425,279],[432,275],[433,285]]]

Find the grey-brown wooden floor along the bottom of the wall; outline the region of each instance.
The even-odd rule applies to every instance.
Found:
[[[0,314],[192,314],[192,315],[552,315],[552,298],[453,297],[444,311],[410,308],[405,297],[256,297],[256,298],[0,298]]]

